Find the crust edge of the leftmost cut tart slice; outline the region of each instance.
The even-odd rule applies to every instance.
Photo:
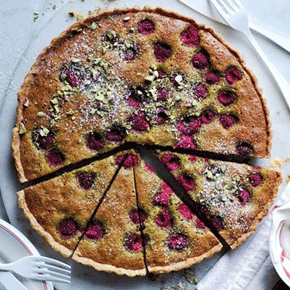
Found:
[[[44,228],[37,222],[36,218],[33,216],[33,214],[30,212],[27,203],[25,201],[25,192],[24,190],[21,190],[19,192],[17,192],[17,196],[18,196],[18,204],[19,207],[21,207],[23,209],[23,213],[24,216],[29,219],[30,221],[30,225],[32,226],[32,228],[34,228],[41,236],[43,236],[46,241],[48,242],[48,244],[57,252],[60,252],[64,257],[68,258],[69,256],[71,256],[72,251],[69,250],[68,248],[60,245],[59,243],[57,243],[54,238],[52,237],[51,234],[49,234],[48,232],[46,232],[44,230]]]

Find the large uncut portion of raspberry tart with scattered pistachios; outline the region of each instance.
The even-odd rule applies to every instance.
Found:
[[[268,110],[239,54],[162,9],[79,21],[37,58],[18,95],[21,182],[124,142],[266,157]]]

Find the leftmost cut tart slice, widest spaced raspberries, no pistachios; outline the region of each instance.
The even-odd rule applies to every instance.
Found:
[[[68,257],[117,167],[111,156],[30,186],[17,193],[19,206],[32,227]]]

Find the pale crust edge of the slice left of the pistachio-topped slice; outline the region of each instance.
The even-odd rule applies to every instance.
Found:
[[[222,245],[219,243],[218,245],[214,246],[209,251],[207,251],[206,253],[204,253],[198,257],[189,258],[185,261],[171,264],[168,266],[148,267],[148,270],[150,273],[154,273],[154,274],[162,274],[162,273],[169,273],[172,271],[179,271],[179,270],[184,269],[184,268],[189,268],[193,264],[200,263],[202,260],[209,258],[212,255],[218,253],[219,251],[221,251],[221,249],[222,249]]]

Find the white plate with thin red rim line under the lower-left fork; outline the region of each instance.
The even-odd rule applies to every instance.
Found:
[[[0,219],[0,263],[11,263],[25,256],[40,255],[21,232]],[[28,290],[53,290],[51,282],[32,282],[25,279],[21,281]]]

